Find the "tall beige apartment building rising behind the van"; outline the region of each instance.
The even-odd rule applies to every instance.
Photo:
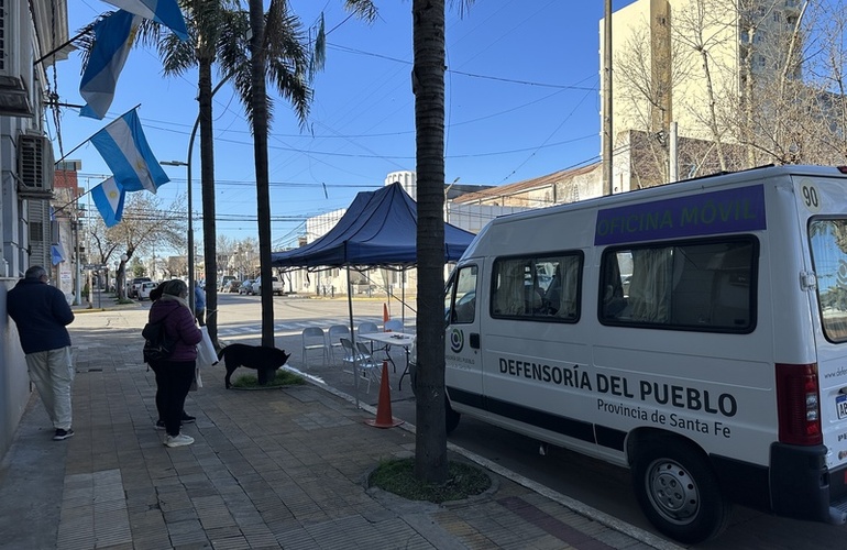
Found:
[[[648,170],[653,175],[647,179],[631,173],[640,168],[645,174],[642,163],[651,157],[667,165],[671,140],[700,143],[683,162],[683,176],[754,162],[737,147],[750,138],[739,135],[744,130],[737,122],[762,108],[762,102],[754,102],[758,92],[783,76],[794,80],[802,76],[802,36],[795,33],[801,4],[801,0],[638,0],[614,12],[616,187],[628,190],[667,180],[667,169]],[[600,35],[603,62],[603,21]],[[601,89],[601,96],[606,92]],[[602,111],[601,121],[605,116]],[[601,139],[605,140],[603,133]],[[636,151],[636,144],[647,150]],[[704,158],[704,151],[712,155]]]

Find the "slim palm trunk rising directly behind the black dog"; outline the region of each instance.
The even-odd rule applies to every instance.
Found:
[[[274,0],[272,0],[274,1]],[[267,175],[267,94],[265,91],[265,24],[262,0],[250,0],[253,107],[253,155],[256,170],[258,261],[262,276],[262,345],[274,345],[274,293],[271,271],[271,193]]]

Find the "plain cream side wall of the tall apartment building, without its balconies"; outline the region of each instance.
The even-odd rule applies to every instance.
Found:
[[[710,81],[718,109],[739,94],[738,21],[726,11],[733,6],[730,0],[639,0],[613,13],[613,135],[667,132],[675,121],[681,136],[712,139]],[[600,33],[603,56],[603,21]],[[697,48],[705,52],[707,67]]]

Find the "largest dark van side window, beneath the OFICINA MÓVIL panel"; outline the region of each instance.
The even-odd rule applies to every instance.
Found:
[[[751,238],[608,249],[600,320],[641,328],[750,332],[757,242]]]

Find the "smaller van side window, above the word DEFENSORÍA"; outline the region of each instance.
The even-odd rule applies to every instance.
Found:
[[[494,261],[492,317],[576,322],[582,253]]]

